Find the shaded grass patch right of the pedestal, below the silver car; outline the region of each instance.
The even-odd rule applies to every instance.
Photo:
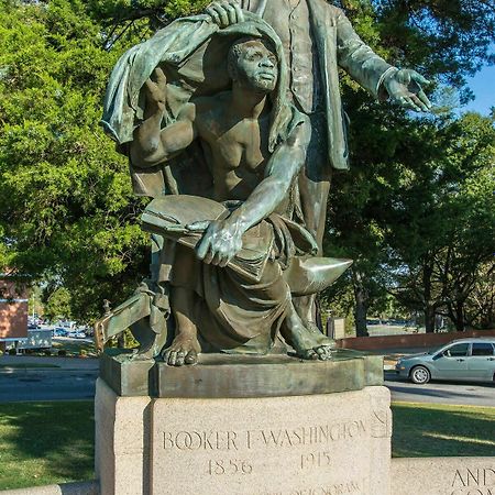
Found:
[[[395,404],[392,409],[395,458],[493,455],[495,408]]]

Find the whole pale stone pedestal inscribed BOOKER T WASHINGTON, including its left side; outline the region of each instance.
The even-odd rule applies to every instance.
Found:
[[[201,387],[198,367],[195,373]],[[244,373],[249,382],[250,366]],[[273,397],[122,397],[100,378],[101,493],[389,495],[389,404],[388,389],[380,385]]]

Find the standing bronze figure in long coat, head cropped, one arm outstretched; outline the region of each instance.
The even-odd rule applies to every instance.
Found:
[[[242,22],[244,11],[263,18],[280,37],[288,66],[289,99],[311,123],[299,191],[305,226],[321,254],[332,169],[349,168],[349,118],[340,98],[339,67],[373,97],[392,98],[418,111],[430,108],[419,86],[428,81],[415,70],[399,70],[373,53],[344,12],[327,0],[230,0],[213,2],[207,9],[222,29]],[[315,327],[314,300],[315,296],[295,300],[308,328]]]

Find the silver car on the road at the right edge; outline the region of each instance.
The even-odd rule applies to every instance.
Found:
[[[414,383],[430,380],[495,381],[495,339],[460,339],[422,354],[400,358],[396,373]]]

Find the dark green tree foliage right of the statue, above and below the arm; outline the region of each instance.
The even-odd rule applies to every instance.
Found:
[[[433,79],[429,89],[443,99],[441,105],[448,91],[465,101],[465,76],[493,62],[495,11],[490,2],[340,3],[378,54]],[[354,260],[346,282],[354,293],[358,333],[366,333],[366,311],[376,310],[387,292],[399,297],[406,311],[428,314],[430,323],[436,311],[465,320],[453,306],[462,307],[480,263],[495,248],[488,193],[493,120],[475,114],[455,119],[440,108],[437,116],[410,114],[372,102],[348,76],[343,81],[352,168],[333,177],[326,252]],[[438,273],[431,280],[433,268]],[[337,307],[342,306],[341,286],[324,295],[327,301],[337,297]]]

